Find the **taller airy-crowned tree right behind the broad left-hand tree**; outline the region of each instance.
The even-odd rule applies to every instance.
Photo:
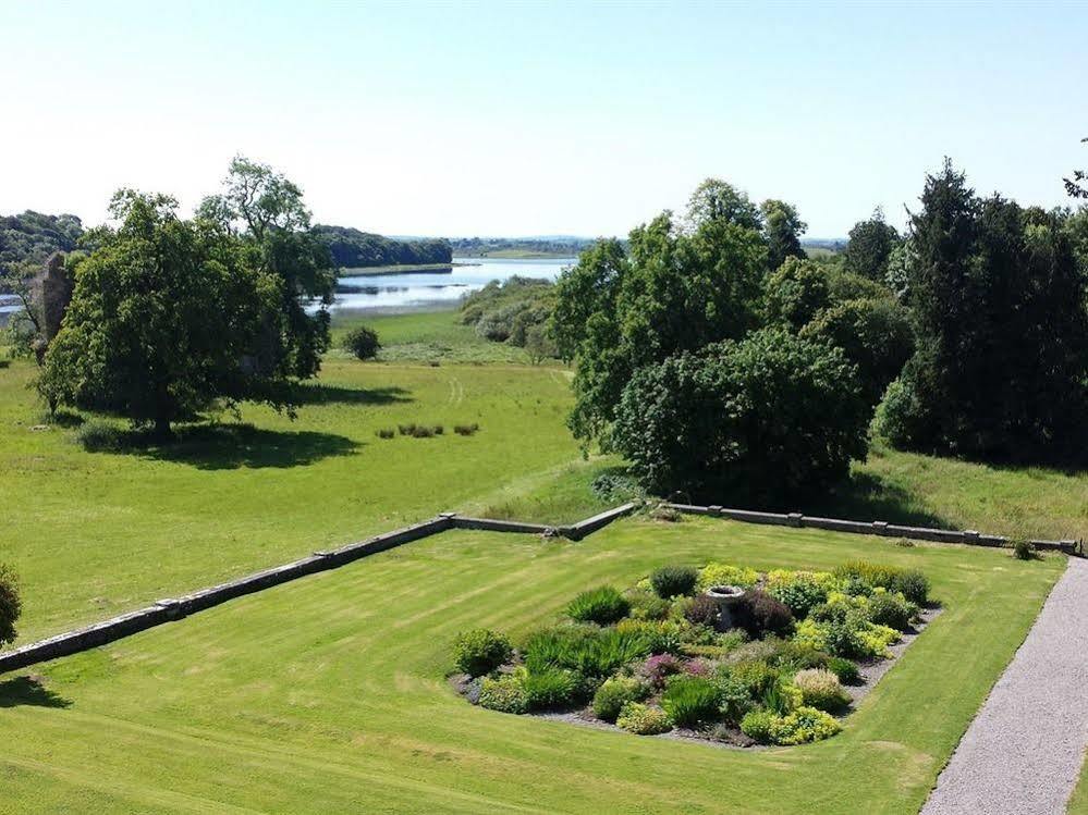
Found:
[[[274,275],[280,308],[264,326],[257,363],[266,372],[307,378],[329,347],[335,286],[332,256],[310,229],[302,189],[267,164],[239,156],[219,195],[205,198],[201,219],[237,235],[253,263]]]

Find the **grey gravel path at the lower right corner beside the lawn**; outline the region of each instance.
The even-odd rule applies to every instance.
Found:
[[[1088,560],[1069,565],[921,815],[1065,812],[1088,744]]]

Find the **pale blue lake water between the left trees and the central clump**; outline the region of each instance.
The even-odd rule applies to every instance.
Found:
[[[394,312],[453,307],[464,295],[493,280],[504,281],[515,275],[555,280],[563,269],[576,263],[577,258],[454,258],[453,262],[473,266],[455,266],[449,272],[343,276],[332,309]]]

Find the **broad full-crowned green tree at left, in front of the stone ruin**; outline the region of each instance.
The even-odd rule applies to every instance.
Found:
[[[169,196],[121,190],[118,226],[80,266],[39,387],[50,404],[112,410],[161,436],[171,422],[257,398],[282,406],[286,380],[259,363],[280,281],[236,237],[182,221]]]

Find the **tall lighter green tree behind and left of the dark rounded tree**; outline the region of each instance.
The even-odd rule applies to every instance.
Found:
[[[560,279],[553,317],[576,362],[575,435],[607,447],[636,370],[756,328],[766,269],[763,236],[724,218],[681,233],[663,213],[632,231],[626,252],[608,242],[584,252]]]

